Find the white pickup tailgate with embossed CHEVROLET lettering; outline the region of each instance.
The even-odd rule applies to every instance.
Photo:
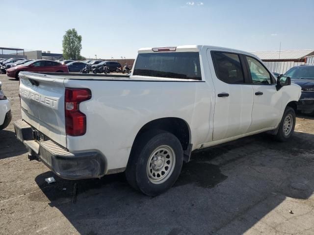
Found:
[[[64,77],[20,72],[22,118],[31,126],[66,147]]]

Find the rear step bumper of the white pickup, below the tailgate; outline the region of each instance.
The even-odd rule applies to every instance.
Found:
[[[37,141],[34,128],[26,121],[14,122],[16,138],[56,175],[69,180],[100,178],[105,175],[105,160],[96,151],[70,153],[57,143]]]

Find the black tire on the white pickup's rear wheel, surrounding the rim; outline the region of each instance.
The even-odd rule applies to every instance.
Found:
[[[177,181],[183,164],[183,149],[178,138],[166,131],[150,130],[142,134],[138,140],[134,142],[134,146],[125,171],[129,184],[148,196],[156,196],[171,188]],[[148,161],[152,162],[155,158],[154,156],[156,156],[152,156],[152,154],[163,146],[170,147],[170,149],[173,150],[173,159],[175,159],[175,161],[168,167],[169,172],[164,173],[165,176],[161,176],[160,174],[160,177],[165,177],[163,179],[164,181],[153,183],[153,180],[148,176]],[[162,154],[164,153],[167,154],[166,151],[162,152]],[[168,156],[169,155],[167,155],[167,157]],[[162,161],[163,165],[168,162],[165,160]]]

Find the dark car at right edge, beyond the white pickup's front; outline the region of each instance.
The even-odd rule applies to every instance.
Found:
[[[305,114],[314,115],[314,66],[295,66],[288,70],[284,76],[302,88],[302,94],[298,102],[298,110]]]

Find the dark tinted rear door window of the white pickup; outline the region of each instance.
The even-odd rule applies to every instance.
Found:
[[[244,83],[242,65],[238,54],[212,51],[216,75],[226,83]]]

